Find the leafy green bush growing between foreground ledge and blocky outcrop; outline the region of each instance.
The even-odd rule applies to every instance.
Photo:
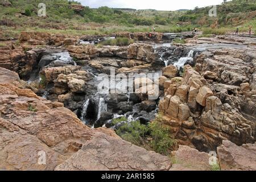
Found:
[[[116,133],[124,140],[154,150],[163,155],[168,155],[174,146],[175,139],[170,135],[168,127],[163,125],[162,115],[159,114],[155,121],[143,125],[139,121],[126,122],[126,118],[113,119],[113,125],[118,125]]]

